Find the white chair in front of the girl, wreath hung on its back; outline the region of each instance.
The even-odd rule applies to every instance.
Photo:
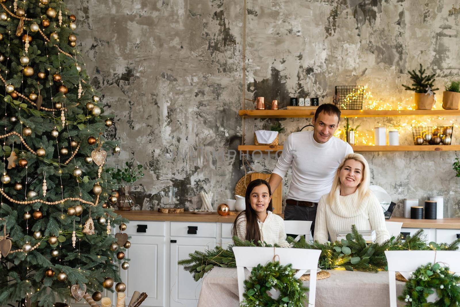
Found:
[[[273,256],[278,255],[280,264],[285,266],[292,264],[293,269],[299,270],[295,274],[296,278],[300,278],[307,270],[310,270],[310,291],[308,295],[309,306],[315,306],[316,294],[316,268],[318,267],[318,259],[321,254],[319,249],[286,249],[273,247],[233,247],[236,260],[236,270],[238,273],[238,293],[240,302],[243,301],[244,293],[244,268],[251,272],[254,266],[259,263],[265,265],[268,261],[273,261]],[[278,257],[275,259],[278,261]]]

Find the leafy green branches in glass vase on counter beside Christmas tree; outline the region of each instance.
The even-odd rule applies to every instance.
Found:
[[[118,197],[117,203],[118,209],[129,211],[136,203],[136,199],[131,195],[132,185],[144,177],[144,173],[141,164],[137,166],[129,162],[125,164],[126,168],[108,168],[107,170],[111,173],[112,179],[116,180],[120,188],[120,197]]]

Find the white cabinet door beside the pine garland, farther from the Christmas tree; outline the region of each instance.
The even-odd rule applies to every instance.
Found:
[[[215,238],[171,237],[171,307],[196,307],[201,291],[201,280],[196,282],[192,274],[177,262],[189,257],[196,250],[213,249]],[[174,242],[176,241],[176,242]]]

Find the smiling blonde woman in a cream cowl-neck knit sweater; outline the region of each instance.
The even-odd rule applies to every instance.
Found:
[[[351,225],[358,230],[375,230],[375,242],[390,238],[385,227],[385,216],[380,202],[369,189],[369,165],[357,153],[345,156],[335,174],[329,194],[321,197],[316,213],[314,239],[320,243],[337,239],[340,232],[351,232]]]

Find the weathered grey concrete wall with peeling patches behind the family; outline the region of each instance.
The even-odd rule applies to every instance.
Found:
[[[136,188],[142,209],[168,202],[170,186],[177,189],[178,203],[189,208],[201,206],[196,195],[202,190],[213,192],[217,204],[233,195],[244,169],[238,156],[224,152],[241,143],[237,111],[243,88],[248,98],[278,99],[283,107],[291,96],[330,102],[336,85],[368,85],[375,99],[407,106],[412,96],[401,84],[409,82],[408,69],[424,64],[442,88],[460,72],[460,0],[248,0],[246,12],[243,0],[79,0],[68,5],[77,16],[77,43],[92,83],[116,114],[111,133],[123,151],[119,161],[111,162],[134,160],[146,168]],[[413,120],[440,125],[458,119],[357,118],[352,123],[372,135],[379,125],[398,127]],[[247,120],[245,143],[252,144],[254,129],[274,122]],[[311,120],[281,122],[286,128],[282,143]],[[457,139],[453,144],[459,144]],[[400,144],[411,142],[412,133],[403,127]],[[445,197],[445,214],[458,214],[454,152],[365,156],[372,183],[391,194],[398,215],[403,198],[424,200],[434,194]],[[276,159],[250,163],[270,171]]]

